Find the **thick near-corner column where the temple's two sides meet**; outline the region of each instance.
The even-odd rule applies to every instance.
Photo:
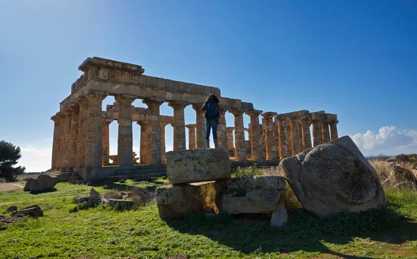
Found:
[[[101,167],[102,153],[102,113],[101,102],[106,98],[103,93],[87,94],[88,99],[88,119],[87,119],[87,139],[85,142],[85,167]]]

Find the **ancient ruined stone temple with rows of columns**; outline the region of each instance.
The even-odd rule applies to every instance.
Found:
[[[263,112],[255,110],[252,103],[222,97],[217,87],[147,76],[140,65],[104,58],[87,58],[79,70],[84,74],[72,84],[60,111],[51,117],[55,122],[51,169],[74,171],[84,179],[165,173],[167,124],[174,128],[174,150],[205,148],[201,107],[209,94],[220,100],[219,148],[229,151],[233,161],[276,163],[338,137],[337,116],[324,111]],[[103,111],[102,101],[108,96],[115,97],[115,103]],[[147,108],[132,106],[136,99]],[[160,114],[164,102],[174,110],[173,117]],[[186,106],[195,110],[193,124],[186,125]],[[226,112],[234,115],[233,127],[227,127]],[[245,115],[250,117],[247,128]],[[109,125],[115,121],[117,154],[110,154]],[[133,140],[133,123],[140,125],[140,140]],[[133,153],[133,142],[137,141],[139,157]]]

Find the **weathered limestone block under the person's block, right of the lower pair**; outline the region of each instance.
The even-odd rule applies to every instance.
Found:
[[[219,210],[230,214],[273,212],[284,188],[285,178],[281,176],[231,178]]]

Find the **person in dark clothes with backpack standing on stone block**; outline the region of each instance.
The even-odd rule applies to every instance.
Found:
[[[204,105],[202,110],[206,111],[204,117],[206,118],[206,147],[210,148],[210,129],[213,128],[213,142],[214,147],[218,147],[218,140],[217,140],[217,126],[219,124],[219,99],[214,95],[210,94]]]

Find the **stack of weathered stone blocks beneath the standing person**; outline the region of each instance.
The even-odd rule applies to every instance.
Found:
[[[156,188],[161,218],[202,211],[266,214],[271,215],[272,226],[286,223],[286,210],[280,203],[284,177],[231,178],[229,155],[223,149],[170,151],[166,161],[171,185]],[[207,204],[210,201],[213,204]]]

